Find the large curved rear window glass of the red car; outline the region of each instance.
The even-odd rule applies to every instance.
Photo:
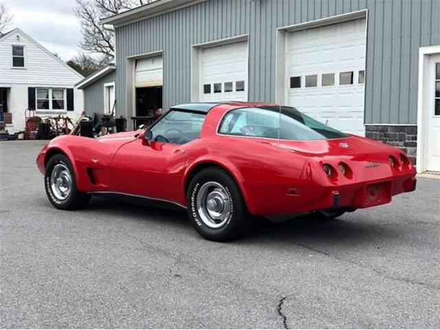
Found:
[[[219,133],[274,139],[279,137],[282,140],[326,140],[349,136],[292,107],[234,109],[223,117]]]

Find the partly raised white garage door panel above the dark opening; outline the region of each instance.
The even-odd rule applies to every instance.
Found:
[[[142,58],[136,61],[135,87],[164,85],[164,61],[162,56]]]

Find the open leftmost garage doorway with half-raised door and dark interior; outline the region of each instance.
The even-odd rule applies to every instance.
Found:
[[[151,124],[162,109],[163,100],[163,58],[153,56],[140,58],[135,67],[135,128]]]

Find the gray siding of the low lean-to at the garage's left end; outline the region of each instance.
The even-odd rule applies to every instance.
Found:
[[[84,111],[87,115],[104,113],[104,84],[113,83],[113,81],[115,81],[114,71],[84,89]],[[118,88],[117,86],[118,83],[115,82],[115,89]],[[118,111],[118,105],[117,100],[116,111]]]

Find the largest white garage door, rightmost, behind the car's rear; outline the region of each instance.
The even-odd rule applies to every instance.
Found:
[[[287,102],[340,131],[364,135],[366,21],[287,37]]]

